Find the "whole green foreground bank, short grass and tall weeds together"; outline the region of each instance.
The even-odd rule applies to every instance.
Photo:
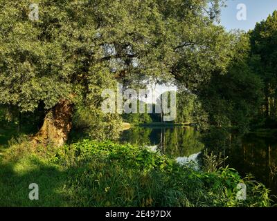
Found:
[[[55,150],[21,142],[0,161],[0,206],[269,206],[265,186],[233,169],[194,171],[139,146],[84,140]],[[239,182],[247,200],[235,199]],[[30,183],[39,185],[39,200],[28,199]]]

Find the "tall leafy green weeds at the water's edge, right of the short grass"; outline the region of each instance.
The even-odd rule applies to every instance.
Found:
[[[234,169],[194,171],[139,146],[84,140],[53,160],[71,171],[76,206],[269,206],[265,186]],[[236,200],[242,182],[247,200]]]

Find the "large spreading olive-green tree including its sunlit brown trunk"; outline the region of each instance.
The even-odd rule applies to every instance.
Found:
[[[116,81],[175,77],[196,90],[232,57],[232,36],[214,25],[220,0],[35,2],[38,19],[33,1],[0,0],[0,103],[43,104],[44,143],[64,144],[76,104],[98,108]]]

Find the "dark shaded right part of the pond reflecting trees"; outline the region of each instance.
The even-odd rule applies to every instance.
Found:
[[[277,141],[257,135],[231,134],[212,130],[202,135],[202,142],[208,152],[228,156],[226,165],[238,170],[241,175],[251,173],[277,193]]]

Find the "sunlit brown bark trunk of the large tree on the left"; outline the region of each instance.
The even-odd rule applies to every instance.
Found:
[[[44,124],[33,137],[35,144],[56,147],[64,145],[72,127],[73,105],[67,99],[61,99],[44,118]]]

